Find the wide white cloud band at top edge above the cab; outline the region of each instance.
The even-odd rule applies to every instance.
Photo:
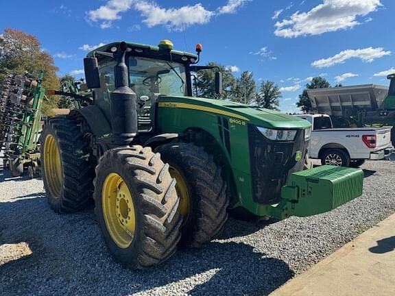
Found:
[[[191,25],[202,25],[219,14],[237,12],[244,3],[250,0],[228,0],[226,5],[215,11],[206,10],[201,3],[184,5],[180,8],[163,8],[154,1],[147,0],[108,0],[96,10],[86,12],[89,21],[101,22],[100,27],[106,29],[112,22],[121,19],[121,12],[136,10],[143,16],[147,27],[164,25],[169,30],[183,31]]]

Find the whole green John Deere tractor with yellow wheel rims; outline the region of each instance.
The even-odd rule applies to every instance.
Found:
[[[219,99],[193,97],[197,54],[114,42],[84,59],[92,97],[49,119],[41,166],[56,212],[95,214],[113,258],[141,269],[178,245],[200,247],[229,209],[285,219],[326,212],[362,193],[361,170],[305,170],[310,123]],[[215,73],[215,90],[222,77]],[[64,95],[64,93],[62,93]]]

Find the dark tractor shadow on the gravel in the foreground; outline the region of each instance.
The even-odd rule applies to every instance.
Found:
[[[0,264],[0,295],[54,295],[59,287],[69,295],[158,295],[156,288],[190,295],[267,295],[294,271],[252,245],[227,239],[261,227],[230,218],[219,240],[132,271],[110,258],[93,210],[55,214],[42,193],[18,197],[0,203],[0,245],[25,242],[32,254]]]

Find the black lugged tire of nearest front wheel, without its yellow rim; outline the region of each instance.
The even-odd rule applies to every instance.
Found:
[[[119,247],[106,225],[102,190],[106,177],[117,173],[132,196],[136,230],[128,247]],[[123,266],[143,269],[167,260],[176,251],[182,219],[176,180],[169,166],[149,147],[119,147],[101,156],[96,167],[95,213],[112,257]],[[120,223],[120,222],[119,222]]]

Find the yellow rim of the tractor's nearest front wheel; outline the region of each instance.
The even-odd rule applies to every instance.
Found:
[[[101,205],[112,240],[122,249],[129,247],[136,230],[136,214],[128,185],[117,173],[110,173],[104,180]]]

